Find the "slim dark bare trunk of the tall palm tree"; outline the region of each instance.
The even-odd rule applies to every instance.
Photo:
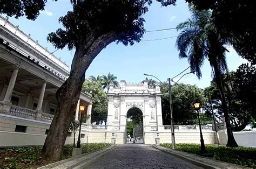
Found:
[[[226,101],[226,96],[225,96],[223,76],[220,73],[217,59],[212,59],[211,62],[212,62],[211,65],[213,66],[214,73],[215,73],[216,83],[217,83],[217,86],[220,91],[221,106],[223,108],[226,127],[227,127],[227,146],[237,147],[238,144],[237,144],[237,142],[235,142],[233,132],[231,129],[231,124],[230,124],[230,116],[228,115],[228,108],[227,108],[227,101]]]

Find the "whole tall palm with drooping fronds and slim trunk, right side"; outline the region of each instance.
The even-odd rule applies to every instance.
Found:
[[[199,79],[202,76],[200,68],[203,66],[204,60],[208,59],[221,95],[227,126],[227,146],[238,146],[231,130],[227,98],[224,91],[223,74],[228,72],[225,56],[227,50],[224,45],[228,43],[228,40],[222,39],[218,30],[215,29],[210,11],[198,11],[192,5],[189,8],[192,18],[177,25],[177,30],[182,30],[176,40],[179,58],[187,58],[191,71],[196,71]]]

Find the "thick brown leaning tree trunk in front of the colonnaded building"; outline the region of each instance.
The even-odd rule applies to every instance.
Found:
[[[62,156],[69,125],[75,115],[76,104],[85,80],[85,71],[99,52],[116,38],[116,33],[108,32],[93,39],[91,43],[85,42],[86,45],[81,44],[76,48],[70,76],[56,93],[57,113],[53,117],[42,150],[45,159],[57,161]]]

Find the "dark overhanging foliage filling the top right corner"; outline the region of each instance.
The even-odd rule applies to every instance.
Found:
[[[243,58],[256,64],[256,3],[242,0],[186,0],[199,10],[212,10],[214,25]],[[235,22],[234,22],[235,21]],[[237,26],[240,25],[240,26]]]

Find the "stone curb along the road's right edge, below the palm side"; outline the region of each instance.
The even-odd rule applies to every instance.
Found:
[[[201,157],[201,156],[198,156],[198,155],[192,154],[192,153],[168,149],[166,147],[159,146],[159,145],[153,145],[153,144],[151,144],[151,145],[155,149],[158,149],[165,153],[169,153],[172,156],[178,157],[180,159],[183,159],[185,161],[188,161],[194,165],[197,165],[197,166],[203,167],[203,168],[246,168],[244,166],[226,163],[224,161],[219,161],[219,160],[215,160],[215,159],[211,159],[211,158],[207,158],[207,157]],[[196,157],[196,159],[195,158],[192,159],[191,156]],[[202,162],[202,161],[204,161],[204,162]]]

